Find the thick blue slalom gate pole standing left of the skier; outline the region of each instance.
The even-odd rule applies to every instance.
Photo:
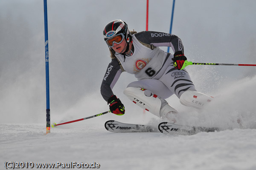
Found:
[[[44,0],[44,48],[45,48],[45,73],[46,73],[46,133],[50,133],[50,97],[49,97],[49,51],[48,51],[48,21],[47,0]]]

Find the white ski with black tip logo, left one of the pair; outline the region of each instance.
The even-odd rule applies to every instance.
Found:
[[[115,133],[131,133],[131,132],[158,132],[157,128],[142,124],[125,124],[119,121],[106,121],[106,130]]]

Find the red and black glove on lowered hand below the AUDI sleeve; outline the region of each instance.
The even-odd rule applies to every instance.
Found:
[[[119,98],[116,97],[116,95],[112,95],[108,99],[109,109],[112,113],[116,115],[123,115],[125,114],[125,107],[122,104],[122,102],[119,100]]]

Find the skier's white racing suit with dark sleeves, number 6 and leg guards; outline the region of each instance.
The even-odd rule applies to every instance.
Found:
[[[126,55],[124,58],[124,55],[116,54],[116,58],[108,65],[101,85],[101,94],[105,101],[113,95],[113,86],[123,71],[134,74],[138,79],[128,84],[125,95],[132,101],[140,99],[144,106],[136,101],[134,103],[158,117],[163,117],[168,112],[177,112],[169,104],[166,105],[164,100],[173,94],[180,98],[181,104],[195,108],[201,108],[211,100],[208,95],[196,91],[185,69],[175,69],[173,55],[159,48],[170,46],[174,52],[184,52],[179,37],[145,31],[132,35],[132,42],[131,56]]]

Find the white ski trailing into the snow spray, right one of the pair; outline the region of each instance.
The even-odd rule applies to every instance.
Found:
[[[199,132],[215,132],[219,131],[217,127],[195,127],[172,124],[169,122],[162,122],[158,125],[158,130],[164,134],[170,135],[194,135]]]

